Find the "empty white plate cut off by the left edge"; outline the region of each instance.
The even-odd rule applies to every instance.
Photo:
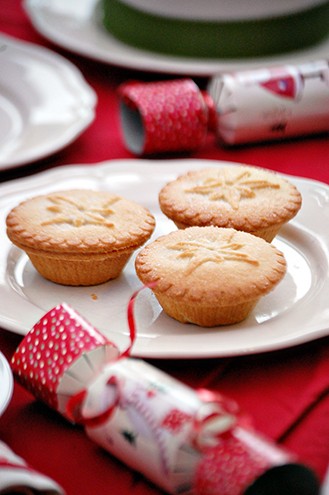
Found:
[[[0,170],[72,142],[94,119],[96,95],[65,58],[0,35]]]

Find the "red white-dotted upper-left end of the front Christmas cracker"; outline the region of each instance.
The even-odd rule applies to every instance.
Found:
[[[44,315],[11,360],[17,379],[63,415],[70,396],[84,389],[119,351],[67,304]]]

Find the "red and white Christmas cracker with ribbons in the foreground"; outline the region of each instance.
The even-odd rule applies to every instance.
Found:
[[[267,469],[293,462],[242,424],[233,401],[193,390],[127,352],[64,304],[33,327],[12,366],[26,388],[69,420],[73,401],[93,441],[168,493],[242,495]]]

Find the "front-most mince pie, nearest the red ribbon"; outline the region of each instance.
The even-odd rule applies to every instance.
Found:
[[[139,252],[135,268],[170,316],[216,326],[246,318],[282,280],[286,261],[264,239],[210,226],[159,237]]]

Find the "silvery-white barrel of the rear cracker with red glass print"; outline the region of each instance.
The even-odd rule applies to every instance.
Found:
[[[328,132],[329,63],[255,68],[208,85],[220,142],[235,145]]]

